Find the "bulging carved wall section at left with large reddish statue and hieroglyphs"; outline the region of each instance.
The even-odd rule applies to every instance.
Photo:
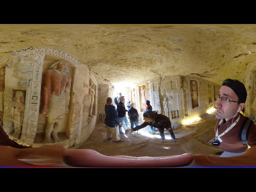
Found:
[[[88,68],[63,52],[46,48],[14,52],[5,68],[5,132],[12,140],[33,147],[78,145],[87,129],[82,119],[90,115],[83,116],[83,109],[90,109],[84,106],[89,80]],[[96,114],[95,107],[92,111]]]

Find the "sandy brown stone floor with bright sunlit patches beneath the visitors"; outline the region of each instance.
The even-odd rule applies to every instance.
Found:
[[[215,155],[216,152],[220,151],[218,146],[212,146],[208,143],[209,140],[214,138],[216,121],[217,119],[214,114],[206,114],[197,122],[187,125],[174,124],[176,143],[173,142],[167,130],[165,131],[166,141],[161,143],[158,131],[154,135],[148,133],[150,130],[149,126],[141,129],[139,134],[134,132],[134,136],[131,133],[127,137],[121,134],[121,140],[124,140],[124,142],[114,142],[107,140],[105,124],[98,122],[92,135],[79,148],[93,149],[107,156],[156,157],[184,153],[218,156]]]

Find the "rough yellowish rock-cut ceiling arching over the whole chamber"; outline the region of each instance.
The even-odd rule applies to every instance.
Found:
[[[195,75],[242,80],[256,60],[256,24],[0,24],[0,62],[52,48],[88,66],[99,84]]]

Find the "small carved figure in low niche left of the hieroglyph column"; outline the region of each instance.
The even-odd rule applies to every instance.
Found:
[[[20,133],[23,126],[24,120],[24,109],[25,100],[22,91],[17,91],[14,96],[14,105],[12,108],[12,122],[14,125],[13,136],[15,138],[20,138]]]

